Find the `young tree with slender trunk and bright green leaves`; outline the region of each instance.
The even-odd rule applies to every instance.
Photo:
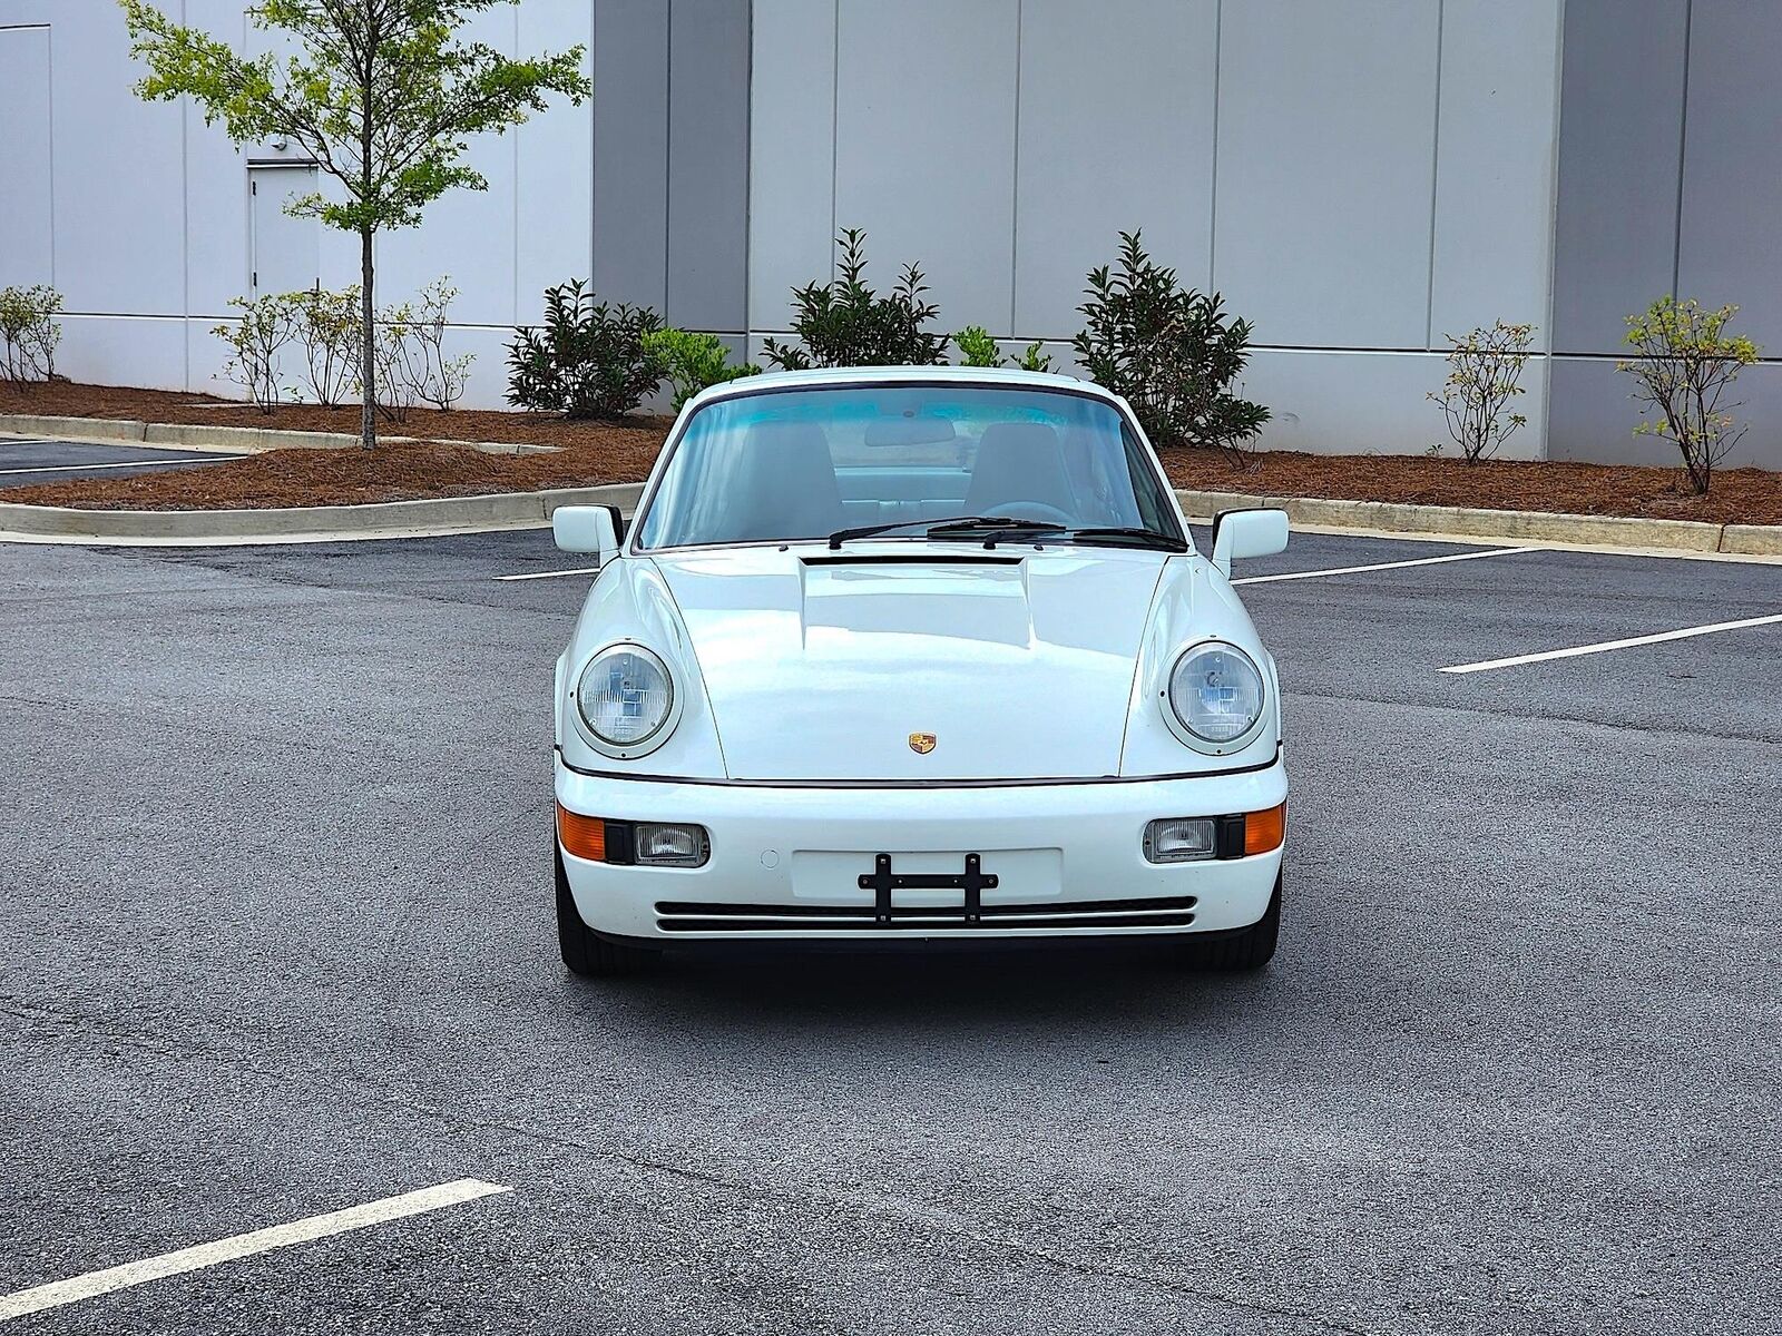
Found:
[[[372,239],[408,228],[453,187],[488,189],[463,164],[465,137],[520,125],[552,93],[581,103],[592,89],[583,48],[510,61],[454,30],[474,12],[517,0],[258,0],[260,29],[294,39],[296,55],[246,59],[226,41],[173,23],[148,0],[119,0],[130,52],[148,64],[135,91],[148,100],[191,96],[205,123],[237,144],[289,139],[340,191],[285,208],[358,233],[360,435],[376,440]]]

